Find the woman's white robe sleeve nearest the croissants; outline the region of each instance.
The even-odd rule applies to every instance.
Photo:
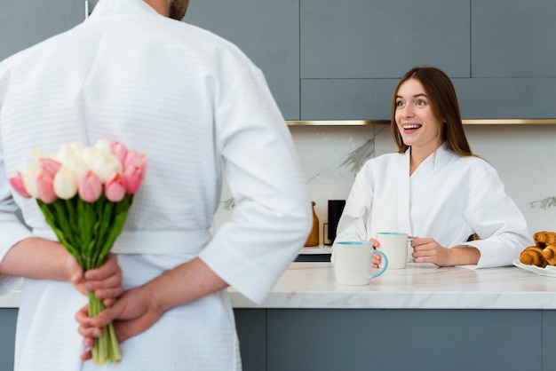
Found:
[[[512,265],[513,259],[534,242],[518,206],[504,189],[496,170],[481,161],[473,172],[473,186],[465,219],[481,240],[466,242],[479,249],[477,268]]]

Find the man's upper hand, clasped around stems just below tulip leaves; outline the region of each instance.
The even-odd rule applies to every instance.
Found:
[[[68,256],[66,269],[69,281],[83,295],[94,291],[95,296],[104,299],[105,306],[114,304],[115,298],[123,294],[122,270],[115,254],[108,254],[105,264],[84,272],[74,257]]]

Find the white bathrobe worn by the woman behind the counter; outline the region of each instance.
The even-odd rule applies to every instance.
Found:
[[[481,251],[477,268],[512,265],[534,244],[520,209],[496,170],[444,144],[409,176],[410,150],[384,154],[357,174],[335,241],[369,241],[378,232],[432,237],[446,248]],[[466,242],[477,233],[481,240]]]

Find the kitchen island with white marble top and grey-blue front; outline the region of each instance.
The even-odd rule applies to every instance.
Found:
[[[244,371],[556,369],[556,278],[513,266],[408,264],[340,286],[330,263],[293,263],[263,304],[229,292]]]

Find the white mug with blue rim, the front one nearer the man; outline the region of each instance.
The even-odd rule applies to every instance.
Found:
[[[380,254],[384,266],[371,274],[372,255]],[[339,241],[334,247],[334,274],[339,285],[368,285],[370,279],[378,277],[388,267],[388,258],[373,249],[370,242]]]

